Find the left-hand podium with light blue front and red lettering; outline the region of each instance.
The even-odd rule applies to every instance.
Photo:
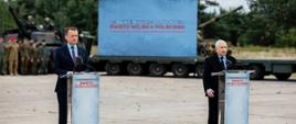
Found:
[[[98,124],[99,75],[67,76],[67,111],[70,124]]]

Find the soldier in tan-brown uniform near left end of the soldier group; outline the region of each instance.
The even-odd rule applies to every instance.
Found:
[[[19,44],[17,40],[11,40],[9,42],[9,74],[12,76],[18,75],[18,63],[19,63]]]

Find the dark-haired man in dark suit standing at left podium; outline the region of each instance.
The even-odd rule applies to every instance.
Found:
[[[67,123],[67,79],[66,75],[73,71],[83,71],[86,67],[82,66],[88,60],[86,52],[77,46],[78,30],[76,27],[65,29],[66,44],[54,52],[53,69],[57,75],[55,92],[59,102],[59,124]]]

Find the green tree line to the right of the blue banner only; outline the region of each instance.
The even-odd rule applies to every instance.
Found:
[[[295,0],[246,0],[250,12],[237,11],[204,29],[205,38],[223,38],[233,45],[296,46]],[[199,3],[199,23],[216,16],[204,10],[215,2]],[[221,13],[229,12],[220,8]]]

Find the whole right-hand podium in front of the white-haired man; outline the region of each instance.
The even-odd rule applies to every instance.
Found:
[[[249,86],[252,70],[212,72],[219,77],[220,124],[249,124]]]

